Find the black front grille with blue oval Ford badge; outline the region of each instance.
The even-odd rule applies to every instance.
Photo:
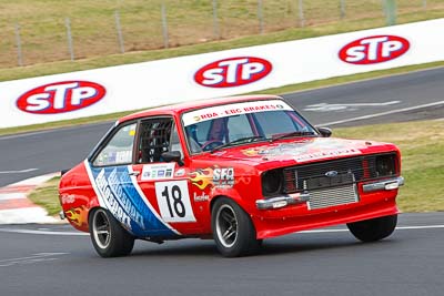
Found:
[[[383,155],[389,155],[393,163],[395,162],[394,153]],[[376,166],[377,156],[381,154],[285,167],[284,193],[315,191],[381,177],[383,175]],[[384,176],[393,175],[395,172]]]

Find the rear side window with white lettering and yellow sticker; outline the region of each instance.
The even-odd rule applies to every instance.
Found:
[[[122,126],[95,157],[93,165],[119,165],[132,162],[137,124]]]

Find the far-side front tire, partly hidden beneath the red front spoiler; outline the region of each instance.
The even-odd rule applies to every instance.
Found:
[[[350,232],[362,242],[375,242],[390,236],[396,228],[397,215],[349,223]]]

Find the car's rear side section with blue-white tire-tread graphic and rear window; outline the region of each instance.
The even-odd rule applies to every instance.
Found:
[[[87,170],[101,207],[107,208],[132,234],[139,237],[174,237],[178,232],[158,215],[138,183],[133,171],[137,161],[138,122],[123,123],[100,145]]]

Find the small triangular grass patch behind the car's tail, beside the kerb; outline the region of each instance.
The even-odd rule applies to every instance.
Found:
[[[50,216],[57,215],[62,210],[59,202],[59,182],[60,176],[53,177],[28,195],[34,204],[44,207]]]

